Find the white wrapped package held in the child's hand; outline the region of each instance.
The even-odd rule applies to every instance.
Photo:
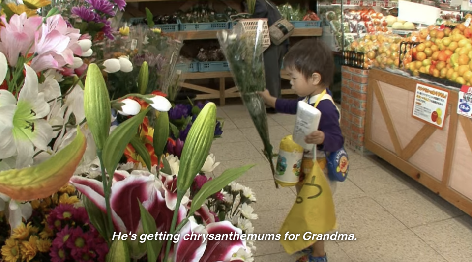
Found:
[[[294,142],[302,146],[305,150],[312,150],[313,145],[305,143],[305,136],[318,130],[320,118],[320,110],[304,101],[298,101],[293,134]]]

